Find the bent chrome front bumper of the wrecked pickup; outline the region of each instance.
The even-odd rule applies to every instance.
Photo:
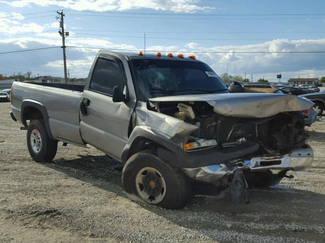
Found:
[[[192,179],[214,183],[225,175],[233,175],[239,167],[245,171],[271,170],[274,174],[288,170],[301,171],[311,165],[313,158],[312,148],[301,148],[284,156],[253,157],[250,160],[236,160],[236,166],[220,164],[200,168],[183,168],[182,170]]]

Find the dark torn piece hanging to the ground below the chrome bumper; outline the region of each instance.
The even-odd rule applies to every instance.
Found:
[[[230,186],[230,197],[237,203],[249,203],[248,185],[241,168],[238,168],[234,173],[233,181]]]

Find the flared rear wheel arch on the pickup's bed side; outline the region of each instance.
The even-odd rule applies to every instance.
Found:
[[[53,139],[49,125],[49,116],[45,106],[35,100],[24,100],[21,105],[21,123],[24,127],[28,127],[27,120],[31,119],[43,119],[46,132],[48,133],[50,139]]]

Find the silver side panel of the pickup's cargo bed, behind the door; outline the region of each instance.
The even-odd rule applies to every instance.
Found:
[[[79,131],[79,103],[83,89],[80,85],[14,82],[12,112],[21,121],[21,108],[38,103],[47,111],[54,139],[83,145]]]

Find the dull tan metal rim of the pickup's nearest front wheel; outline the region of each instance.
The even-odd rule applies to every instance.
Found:
[[[166,195],[166,182],[153,167],[142,168],[136,176],[138,195],[148,204],[159,204]]]

